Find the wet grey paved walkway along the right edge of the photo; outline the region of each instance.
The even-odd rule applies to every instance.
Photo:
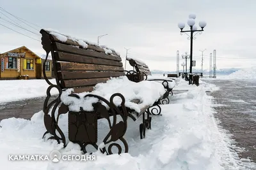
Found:
[[[255,80],[204,80],[220,87],[210,95],[220,104],[214,115],[221,121],[221,127],[228,130],[237,142],[245,148],[241,157],[256,160],[256,81]]]

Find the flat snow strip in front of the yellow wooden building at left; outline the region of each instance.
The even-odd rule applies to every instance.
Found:
[[[55,79],[50,81],[52,84],[56,84]],[[8,103],[34,97],[44,97],[49,85],[45,80],[1,80],[0,87],[0,103]],[[58,90],[53,88],[51,94],[58,94]]]

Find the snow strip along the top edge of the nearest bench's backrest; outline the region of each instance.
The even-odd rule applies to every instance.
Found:
[[[56,37],[59,41],[65,43],[68,39],[76,42],[79,44],[79,46],[82,46],[83,48],[88,48],[88,45],[97,46],[99,48],[102,48],[106,54],[109,55],[118,55],[120,56],[120,53],[116,52],[113,48],[109,48],[105,45],[97,45],[97,43],[93,43],[92,41],[88,41],[87,39],[81,39],[81,38],[75,38],[73,36],[67,35],[67,34],[61,34],[59,31],[53,30],[53,29],[44,29],[45,31],[49,32],[52,36]]]

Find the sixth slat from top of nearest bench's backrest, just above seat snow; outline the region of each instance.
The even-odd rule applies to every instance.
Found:
[[[72,87],[83,87],[93,86],[97,83],[105,83],[109,78],[88,78],[79,80],[61,80],[61,87],[72,88]]]

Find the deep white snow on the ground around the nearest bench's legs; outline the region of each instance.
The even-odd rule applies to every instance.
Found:
[[[52,150],[61,154],[81,155],[78,145],[68,143],[66,148],[56,141],[42,139],[45,132],[44,113],[35,113],[31,120],[8,118],[0,122],[1,169],[186,169],[224,170],[249,169],[231,149],[232,141],[218,129],[213,117],[212,97],[205,91],[218,90],[214,85],[200,81],[200,86],[189,86],[179,79],[177,90],[188,90],[170,97],[170,104],[162,105],[163,116],[152,116],[152,129],[140,139],[141,119],[128,121],[124,136],[129,153],[97,156],[95,161],[10,161],[8,155],[49,155]],[[42,90],[45,92],[45,90]],[[67,136],[67,114],[61,115],[60,125]],[[108,132],[106,122],[98,121],[99,141]],[[49,136],[48,136],[49,137]]]

